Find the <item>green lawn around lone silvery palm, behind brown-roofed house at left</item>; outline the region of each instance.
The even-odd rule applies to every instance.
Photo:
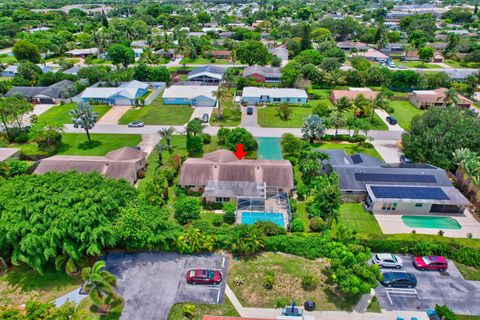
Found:
[[[88,143],[85,133],[62,134],[62,147],[58,154],[77,156],[104,156],[121,147],[135,147],[142,140],[139,134],[91,134]]]

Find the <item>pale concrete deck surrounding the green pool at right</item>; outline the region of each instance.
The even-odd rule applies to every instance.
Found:
[[[415,230],[416,233],[420,234],[438,234],[440,229],[430,229],[430,228],[411,228],[406,226],[402,221],[403,214],[374,214],[377,219],[382,232],[385,234],[395,234],[395,233],[412,233]],[[434,216],[440,216],[435,214]],[[465,215],[448,215],[452,217],[462,226],[460,230],[454,229],[442,229],[445,233],[444,237],[450,238],[468,238],[468,234],[471,233],[473,238],[480,239],[480,223],[475,220],[472,214],[468,211],[465,212]]]

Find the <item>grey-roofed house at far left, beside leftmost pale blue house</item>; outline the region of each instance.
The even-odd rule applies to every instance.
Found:
[[[55,104],[73,97],[76,93],[74,83],[63,80],[48,87],[12,87],[5,96],[20,96],[32,103]]]

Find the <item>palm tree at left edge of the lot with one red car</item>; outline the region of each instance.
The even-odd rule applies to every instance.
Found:
[[[92,302],[97,306],[105,303],[105,301],[117,298],[114,289],[117,279],[110,272],[102,270],[104,267],[105,261],[97,261],[91,268],[82,269],[82,279],[85,281],[84,288]]]

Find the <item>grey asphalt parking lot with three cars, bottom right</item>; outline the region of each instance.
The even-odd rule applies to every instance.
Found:
[[[386,310],[427,310],[435,304],[446,304],[458,314],[480,315],[480,281],[463,279],[452,261],[448,261],[446,272],[419,271],[412,265],[412,257],[400,255],[403,259],[401,270],[382,269],[382,272],[405,271],[417,277],[418,297],[413,294],[390,293],[379,284],[375,289],[378,302]]]

